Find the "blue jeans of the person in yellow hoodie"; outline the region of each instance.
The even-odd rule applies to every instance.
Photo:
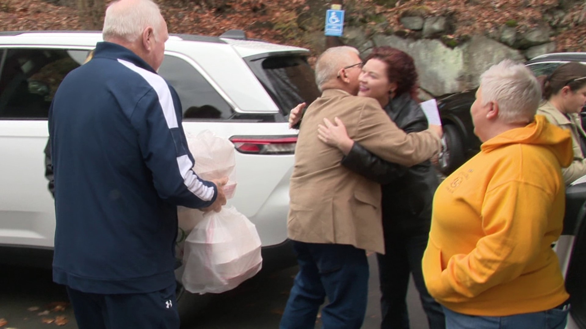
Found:
[[[515,314],[505,317],[468,316],[444,307],[447,329],[564,329],[568,311],[547,311]]]

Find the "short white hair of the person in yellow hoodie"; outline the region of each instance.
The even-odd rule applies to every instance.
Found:
[[[541,100],[541,87],[529,68],[503,60],[482,73],[480,85],[482,105],[496,102],[504,122],[533,121]]]

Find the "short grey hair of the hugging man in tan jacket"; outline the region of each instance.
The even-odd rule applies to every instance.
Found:
[[[315,83],[319,90],[322,90],[322,85],[329,80],[338,76],[338,71],[345,66],[350,66],[356,63],[355,57],[351,54],[360,54],[355,47],[339,46],[326,49],[315,63]]]

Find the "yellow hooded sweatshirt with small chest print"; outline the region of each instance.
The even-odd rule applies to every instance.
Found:
[[[561,167],[570,133],[536,115],[481,146],[434,196],[423,256],[425,285],[439,303],[474,316],[552,309],[568,299],[551,243],[565,207]]]

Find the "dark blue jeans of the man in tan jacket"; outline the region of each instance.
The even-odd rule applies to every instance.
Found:
[[[299,273],[295,277],[281,329],[315,327],[322,309],[325,329],[359,329],[368,297],[369,266],[366,252],[351,245],[309,244],[293,241]]]

